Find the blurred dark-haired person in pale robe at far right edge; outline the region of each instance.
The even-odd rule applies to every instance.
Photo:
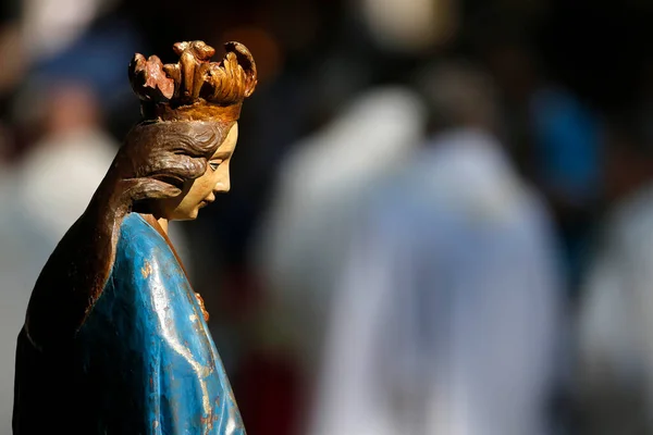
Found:
[[[653,136],[646,120],[612,122],[611,208],[595,235],[578,313],[582,433],[653,431]]]

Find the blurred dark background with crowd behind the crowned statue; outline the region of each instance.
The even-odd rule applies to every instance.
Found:
[[[4,0],[0,435],[32,286],[138,121],[127,64],[193,39],[259,69],[232,191],[171,225],[250,435],[653,434],[651,23],[644,0]]]

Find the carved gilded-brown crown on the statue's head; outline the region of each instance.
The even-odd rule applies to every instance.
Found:
[[[243,100],[257,85],[254,58],[239,42],[224,45],[226,54],[210,62],[215,50],[202,41],[176,42],[177,63],[136,53],[130,63],[132,89],[146,121],[236,121]]]

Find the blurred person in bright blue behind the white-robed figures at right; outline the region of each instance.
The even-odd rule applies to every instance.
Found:
[[[576,289],[603,195],[602,120],[547,74],[525,37],[497,34],[482,42],[482,55],[504,95],[506,141],[552,208],[570,288]]]

